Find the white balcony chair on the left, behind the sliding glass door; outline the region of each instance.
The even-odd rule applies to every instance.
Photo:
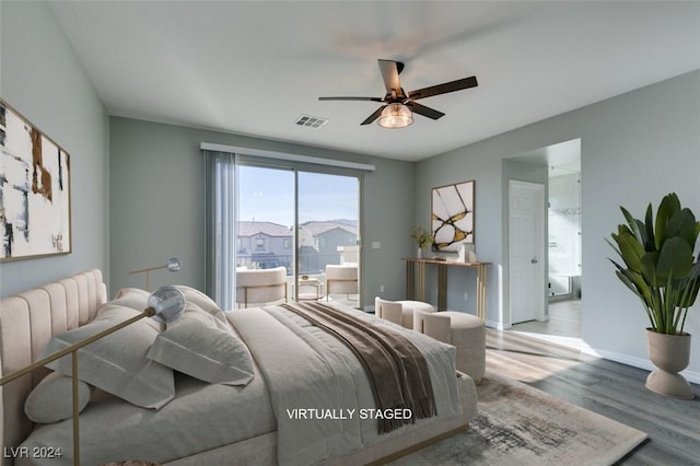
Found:
[[[236,304],[287,302],[287,268],[236,270]]]

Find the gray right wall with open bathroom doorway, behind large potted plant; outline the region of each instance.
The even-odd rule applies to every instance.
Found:
[[[645,206],[675,191],[700,213],[700,71],[643,88],[571,113],[434,156],[418,164],[417,218],[428,219],[432,186],[476,179],[476,251],[492,261],[488,317],[504,321],[503,275],[508,230],[503,224],[502,160],[581,138],[583,300],[582,331],[599,354],[651,368],[646,316],[619,282],[605,243],[623,219],[619,206],[643,215]],[[700,304],[686,330],[700,335]],[[700,382],[700,357],[686,372]]]

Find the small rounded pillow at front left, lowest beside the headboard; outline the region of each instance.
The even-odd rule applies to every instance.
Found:
[[[82,411],[91,395],[90,385],[78,381],[78,412]],[[26,417],[34,422],[48,424],[73,417],[73,380],[51,372],[34,387],[24,403]]]

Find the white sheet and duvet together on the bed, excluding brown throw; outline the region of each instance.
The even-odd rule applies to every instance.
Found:
[[[453,347],[362,312],[340,308],[408,337],[429,362],[439,417],[462,412]],[[279,463],[306,465],[378,439],[376,420],[360,419],[361,409],[375,407],[368,377],[343,343],[280,306],[240,310],[226,316],[256,360],[254,380],[236,387],[180,375],[175,399],[158,411],[115,398],[91,403],[80,415],[83,464],[135,458],[166,463],[278,430]],[[294,411],[317,408],[325,410],[305,411],[306,417],[320,412],[327,419],[312,421]],[[433,421],[435,418],[417,424]],[[21,445],[30,452],[60,446],[61,458],[20,458],[16,464],[72,464],[71,427],[71,420],[38,426]]]

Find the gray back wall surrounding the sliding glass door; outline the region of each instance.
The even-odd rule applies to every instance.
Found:
[[[151,288],[183,283],[203,289],[205,172],[201,142],[370,163],[376,171],[362,183],[365,251],[364,303],[383,295],[404,296],[404,264],[410,251],[413,164],[327,151],[230,133],[141,120],[110,119],[110,257],[112,289],[144,287],[130,270],[183,260],[176,275],[151,273]],[[380,249],[372,249],[380,242]]]

